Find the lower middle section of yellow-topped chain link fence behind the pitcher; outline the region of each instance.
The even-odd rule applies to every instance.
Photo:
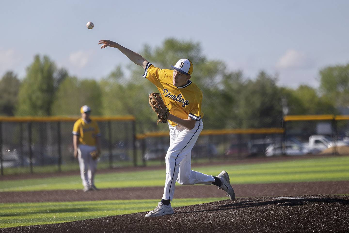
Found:
[[[280,145],[283,129],[203,130],[191,151],[193,163],[265,156],[269,145]],[[169,133],[138,134],[143,166],[164,165]]]

